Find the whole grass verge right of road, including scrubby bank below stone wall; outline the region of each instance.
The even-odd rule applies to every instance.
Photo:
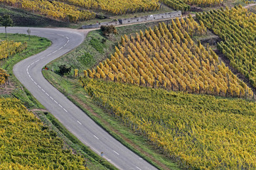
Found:
[[[106,38],[99,30],[92,31],[88,33],[87,38],[85,42],[82,42],[82,45],[69,54],[50,62],[48,67],[50,69],[54,68],[55,72],[57,72],[58,66],[61,64],[68,64],[68,67],[72,67],[72,69],[80,69],[80,74],[82,74],[82,69],[94,67],[98,62],[110,57],[112,50],[114,50],[114,45],[118,45],[119,37],[123,33],[134,33],[134,31],[140,29],[144,30],[145,27],[154,26],[154,24],[157,24],[157,22],[146,23],[146,26],[144,24],[117,28],[119,30],[119,35],[112,36],[111,38]],[[92,38],[97,39],[96,41],[94,40],[94,42],[104,44],[103,52],[102,50],[97,51],[92,46],[92,43],[90,43]],[[80,62],[81,58],[84,61],[83,64]],[[82,89],[78,83],[78,79],[73,79],[73,75],[61,77],[55,72],[50,72],[49,70],[43,71],[43,75],[51,84],[53,84],[53,86],[55,86],[55,88],[67,96],[70,101],[73,101],[73,103],[87,113],[87,115],[89,115],[98,125],[109,132],[110,135],[158,169],[179,169],[175,162],[172,162],[171,159],[165,157],[164,154],[159,152],[159,150],[151,145],[150,142],[147,142],[144,137],[136,135],[132,130],[129,130],[129,128],[120,123],[119,120],[112,117],[110,113],[107,113],[102,108],[96,106],[95,103],[91,101],[90,97],[87,96],[85,90]]]

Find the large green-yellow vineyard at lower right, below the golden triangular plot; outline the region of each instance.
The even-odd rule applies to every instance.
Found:
[[[80,79],[90,96],[186,169],[256,169],[256,105]]]

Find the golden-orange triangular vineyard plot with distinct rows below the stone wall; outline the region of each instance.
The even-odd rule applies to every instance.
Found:
[[[190,16],[181,21],[176,18],[169,26],[161,23],[154,30],[140,31],[135,37],[124,35],[111,60],[85,70],[85,77],[193,94],[252,98],[252,91],[210,47],[206,49],[191,39],[204,33],[203,22],[198,24]]]

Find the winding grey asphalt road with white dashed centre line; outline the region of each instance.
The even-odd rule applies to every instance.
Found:
[[[52,45],[47,50],[18,62],[13,69],[17,79],[65,128],[97,154],[103,152],[103,157],[118,169],[156,169],[100,128],[43,77],[42,68],[80,45],[84,40],[84,33],[58,28],[30,29],[31,35],[48,38]],[[28,28],[8,28],[9,33],[26,34],[26,30]],[[0,27],[0,33],[4,33],[3,27]]]

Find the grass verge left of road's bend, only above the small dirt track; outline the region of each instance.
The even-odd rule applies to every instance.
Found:
[[[7,28],[8,33],[8,28]],[[6,69],[8,74],[10,74],[9,81],[10,84],[7,84],[4,89],[1,89],[1,96],[10,96],[16,97],[22,101],[22,103],[27,108],[44,108],[41,103],[39,103],[36,98],[32,96],[32,94],[16,79],[13,73],[13,67],[16,63],[21,60],[26,59],[32,55],[36,55],[43,50],[46,50],[47,47],[51,45],[50,40],[46,38],[39,38],[37,36],[32,36],[30,40],[28,40],[28,35],[23,34],[7,34],[7,38],[5,38],[4,33],[0,33],[0,40],[14,40],[16,42],[27,42],[28,48],[23,52],[20,52],[13,57],[9,57],[6,60],[0,61],[0,67]]]

